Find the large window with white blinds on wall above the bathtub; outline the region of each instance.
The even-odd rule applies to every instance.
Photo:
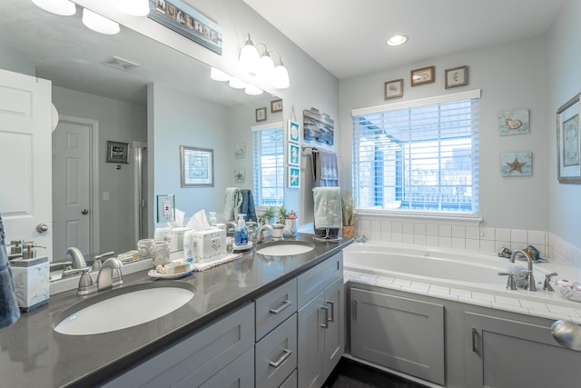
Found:
[[[360,210],[478,214],[480,91],[356,109]]]

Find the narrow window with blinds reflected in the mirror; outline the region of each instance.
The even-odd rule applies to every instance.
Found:
[[[284,131],[282,123],[252,128],[254,204],[281,205],[284,200]]]

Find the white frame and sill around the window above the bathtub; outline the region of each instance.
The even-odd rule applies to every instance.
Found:
[[[456,102],[460,100],[469,100],[480,98],[481,92],[480,89],[471,90],[467,92],[460,92],[460,93],[453,93],[448,95],[438,95],[432,96],[427,98],[421,98],[417,100],[410,100],[410,101],[399,101],[396,103],[390,104],[381,104],[376,106],[369,106],[364,108],[357,108],[351,110],[351,117],[366,115],[366,114],[380,114],[384,112],[394,111],[394,110],[401,110],[411,107],[423,106],[428,104],[443,104],[448,102]],[[355,144],[353,145],[353,179],[356,177],[356,168],[357,166],[355,161]],[[353,192],[354,195],[356,187],[355,181],[353,180]],[[478,197],[478,195],[477,195]],[[462,213],[462,212],[445,212],[445,211],[419,211],[419,210],[389,210],[389,209],[357,209],[358,214],[369,214],[369,215],[384,215],[389,216],[392,218],[402,218],[402,219],[424,219],[424,220],[438,220],[438,219],[446,219],[446,220],[471,220],[470,223],[479,223],[481,222],[480,214],[479,214],[479,204],[478,204],[478,213]]]

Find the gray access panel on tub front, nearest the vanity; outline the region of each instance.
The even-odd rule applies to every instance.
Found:
[[[444,306],[351,288],[351,353],[444,385]]]

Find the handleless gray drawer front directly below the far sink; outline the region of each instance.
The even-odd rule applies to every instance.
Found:
[[[297,299],[300,309],[305,303],[343,275],[343,251],[333,254],[324,262],[315,265],[297,278]]]

